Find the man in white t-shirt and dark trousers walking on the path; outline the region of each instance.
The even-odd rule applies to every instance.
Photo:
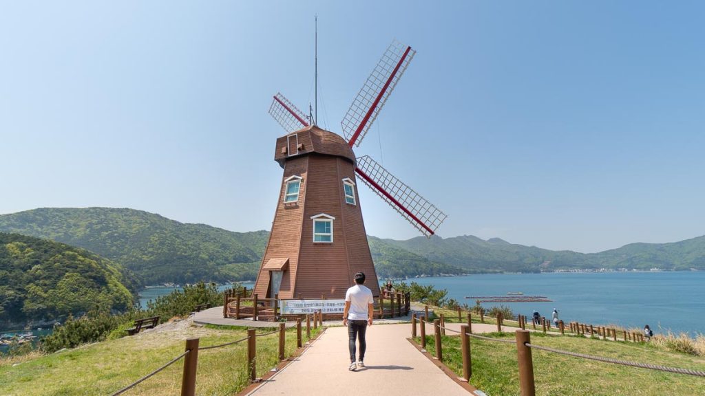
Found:
[[[343,326],[348,326],[348,348],[350,349],[350,366],[348,370],[355,371],[358,367],[364,367],[364,350],[367,349],[367,342],[364,335],[367,326],[372,326],[372,314],[374,313],[374,299],[372,290],[363,286],[364,273],[355,274],[355,286],[350,287],[345,292],[345,311],[343,311]],[[360,341],[359,359],[355,361],[355,339]]]

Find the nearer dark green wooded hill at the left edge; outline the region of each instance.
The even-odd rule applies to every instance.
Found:
[[[139,286],[119,264],[84,249],[0,233],[0,326],[126,311]]]

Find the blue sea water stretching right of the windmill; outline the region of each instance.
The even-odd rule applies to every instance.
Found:
[[[482,305],[504,305],[529,317],[537,310],[546,318],[551,318],[556,308],[565,323],[627,328],[648,324],[654,333],[705,333],[705,271],[488,274],[406,280],[412,281],[446,289],[448,298],[471,307],[475,300],[465,296],[512,297],[507,293],[522,292],[546,296],[553,302]]]

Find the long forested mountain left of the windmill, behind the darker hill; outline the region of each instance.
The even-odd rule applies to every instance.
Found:
[[[0,216],[0,231],[82,247],[146,285],[254,278],[269,233],[233,233],[134,209],[42,208]]]

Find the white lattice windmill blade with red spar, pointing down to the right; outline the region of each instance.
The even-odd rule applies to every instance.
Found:
[[[355,172],[368,187],[427,237],[434,235],[448,217],[369,156],[357,159]]]

